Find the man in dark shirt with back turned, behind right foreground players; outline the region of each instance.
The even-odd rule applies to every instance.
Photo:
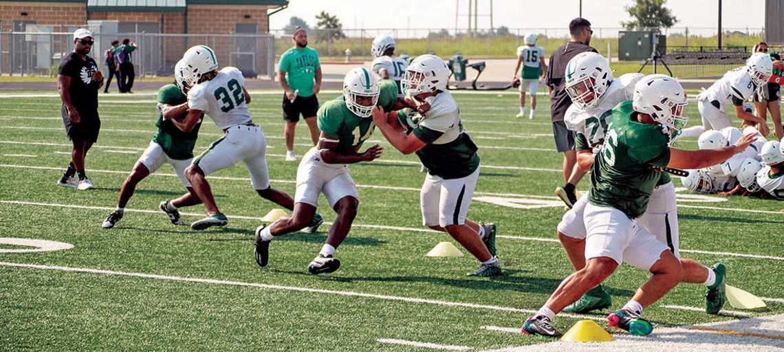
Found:
[[[569,33],[572,34],[572,40],[565,42],[559,46],[550,55],[550,64],[547,65],[547,90],[550,91],[550,114],[553,116],[553,136],[555,137],[555,147],[559,153],[564,153],[564,186],[557,187],[555,194],[560,197],[569,208],[577,201],[575,192],[575,185],[583,178],[585,172],[582,172],[577,167],[577,154],[574,151],[575,147],[575,132],[566,129],[564,123],[564,114],[566,109],[572,105],[572,99],[569,98],[564,89],[565,79],[564,72],[566,65],[572,57],[577,56],[579,53],[591,51],[597,53],[588,44],[593,35],[590,29],[590,22],[588,20],[577,17],[569,23]]]

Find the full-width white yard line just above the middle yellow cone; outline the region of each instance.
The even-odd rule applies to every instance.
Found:
[[[0,165],[3,166],[3,165]],[[92,172],[92,170],[91,170]],[[292,181],[293,182],[293,181]],[[0,200],[0,204],[16,204],[16,205],[33,205],[33,206],[49,206],[55,208],[66,208],[66,209],[92,209],[92,210],[103,210],[103,211],[112,211],[114,207],[105,207],[105,206],[89,206],[89,205],[71,205],[71,204],[57,204],[57,203],[40,203],[34,201],[6,201]],[[158,210],[147,210],[147,209],[125,209],[126,212],[143,212],[147,214],[161,214]],[[201,212],[180,212],[181,215],[184,216],[204,216]],[[262,221],[258,216],[238,216],[238,215],[228,215],[230,218],[235,219],[243,219],[243,220],[256,220]],[[325,222],[327,225],[331,225],[332,223]],[[400,230],[400,231],[407,231],[407,232],[431,232],[431,233],[438,233],[436,230],[430,230],[426,227],[397,227],[397,226],[387,226],[387,225],[372,225],[372,224],[362,224],[362,223],[354,223],[351,225],[352,227],[365,227],[365,228],[373,228],[373,229],[382,229],[382,230]],[[537,237],[524,237],[524,236],[507,236],[507,235],[497,235],[496,238],[508,238],[514,240],[521,240],[521,241],[542,241],[542,242],[558,242],[558,240],[554,238],[537,238]],[[713,256],[738,256],[743,258],[753,258],[753,259],[772,259],[772,260],[779,260],[784,261],[784,258],[779,256],[757,256],[753,254],[742,254],[742,253],[731,253],[731,252],[708,252],[708,251],[696,251],[696,250],[688,250],[688,249],[681,249],[681,252],[695,252],[701,254],[708,254]]]

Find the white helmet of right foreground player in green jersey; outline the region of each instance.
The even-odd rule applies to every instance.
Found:
[[[680,132],[688,118],[683,116],[687,104],[681,83],[666,74],[648,74],[634,85],[634,111],[649,114],[670,130]]]

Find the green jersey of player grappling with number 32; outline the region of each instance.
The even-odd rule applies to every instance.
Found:
[[[158,89],[158,103],[178,105],[185,103],[186,100],[187,98],[176,85],[164,85],[161,89]],[[155,122],[155,127],[158,127],[158,133],[155,133],[152,141],[160,144],[166,155],[169,155],[169,158],[176,160],[193,158],[194,145],[196,144],[198,129],[201,127],[203,118],[204,115],[202,114],[191,132],[183,132],[174,125],[174,122],[164,121],[163,114],[160,114],[158,122]]]

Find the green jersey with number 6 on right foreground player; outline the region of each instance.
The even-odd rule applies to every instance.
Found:
[[[670,162],[667,142],[660,125],[637,122],[630,100],[619,103],[591,166],[588,201],[619,209],[632,219],[641,216],[662,176],[652,167]]]

